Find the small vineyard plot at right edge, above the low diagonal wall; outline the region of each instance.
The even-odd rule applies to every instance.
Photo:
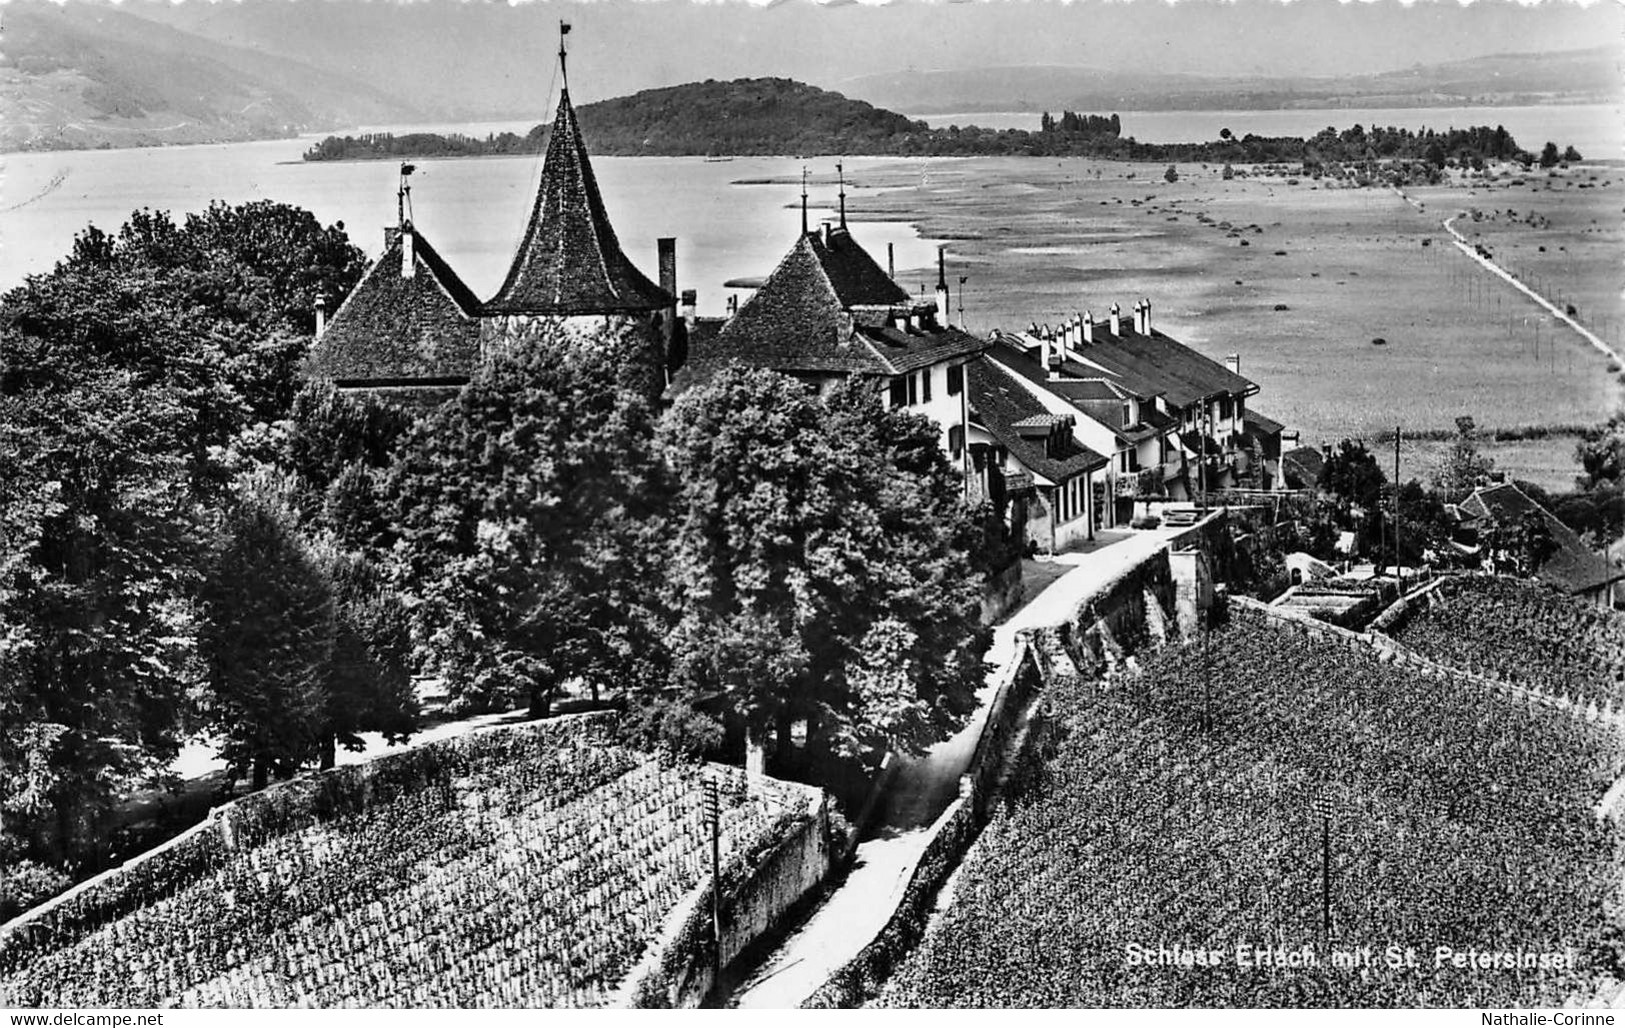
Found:
[[[1462,671],[1539,689],[1581,705],[1625,703],[1625,614],[1532,581],[1445,581],[1396,640]]]

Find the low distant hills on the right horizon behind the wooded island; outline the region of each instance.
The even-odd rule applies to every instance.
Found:
[[[881,71],[838,83],[847,96],[910,114],[988,110],[1277,110],[1610,102],[1618,47],[1497,54],[1341,78],[1214,78],[1077,67]]]

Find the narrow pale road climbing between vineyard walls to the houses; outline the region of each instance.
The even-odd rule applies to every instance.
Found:
[[[908,888],[931,825],[959,796],[959,776],[982,739],[999,669],[1016,656],[1016,633],[1064,622],[1097,590],[1167,546],[1172,534],[1112,533],[1107,546],[1056,557],[1072,570],[994,627],[985,658],[988,676],[970,724],[899,768],[881,827],[858,846],[847,880],[734,991],[734,1007],[800,1007],[879,934]]]

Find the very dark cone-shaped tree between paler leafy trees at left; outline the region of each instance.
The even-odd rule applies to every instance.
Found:
[[[234,778],[255,789],[317,755],[333,659],[333,590],[299,534],[292,481],[245,476],[200,590],[210,719]]]

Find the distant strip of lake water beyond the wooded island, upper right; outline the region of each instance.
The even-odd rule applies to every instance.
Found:
[[[910,114],[933,128],[1038,128],[1037,110]],[[1355,122],[1367,128],[1466,128],[1505,125],[1518,145],[1540,153],[1547,140],[1573,145],[1588,158],[1625,158],[1625,104],[1563,104],[1532,107],[1318,107],[1302,110],[1118,110],[1123,135],[1141,143],[1199,143],[1217,140],[1220,128],[1238,136],[1311,136],[1328,125],[1339,132]]]

